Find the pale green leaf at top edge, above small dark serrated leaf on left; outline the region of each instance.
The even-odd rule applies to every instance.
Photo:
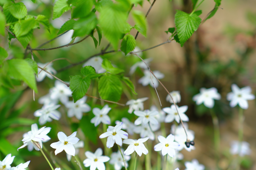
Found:
[[[57,0],[53,6],[52,19],[59,18],[64,12],[70,10],[71,7],[66,0]]]

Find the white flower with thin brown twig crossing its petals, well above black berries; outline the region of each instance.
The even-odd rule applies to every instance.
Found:
[[[188,110],[188,106],[181,106],[181,107],[178,107],[178,105],[176,105],[176,106],[177,106],[177,110],[179,111],[179,115],[180,115],[181,120],[184,121],[184,122],[189,121],[188,116],[185,114],[185,112]],[[163,111],[165,113],[168,113],[167,116],[165,117],[164,122],[169,123],[169,122],[174,121],[174,119],[175,119],[176,122],[179,123],[180,118],[179,118],[179,115],[177,113],[177,110],[176,110],[176,107],[175,107],[174,104],[172,104],[171,107],[163,108]]]

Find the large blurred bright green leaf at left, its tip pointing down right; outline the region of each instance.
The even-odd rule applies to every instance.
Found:
[[[22,59],[11,59],[6,62],[8,64],[8,75],[13,79],[24,81],[37,93],[34,70],[29,63]]]

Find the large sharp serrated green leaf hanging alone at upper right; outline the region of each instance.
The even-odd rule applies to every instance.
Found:
[[[190,16],[186,12],[180,10],[176,12],[174,18],[180,46],[183,46],[191,35],[198,29],[201,23],[201,18],[196,14],[192,14]]]

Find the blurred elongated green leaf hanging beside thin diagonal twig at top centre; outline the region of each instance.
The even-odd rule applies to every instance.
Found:
[[[147,21],[141,11],[134,10],[132,12],[133,20],[135,21],[135,29],[138,30],[143,36],[147,36]]]

